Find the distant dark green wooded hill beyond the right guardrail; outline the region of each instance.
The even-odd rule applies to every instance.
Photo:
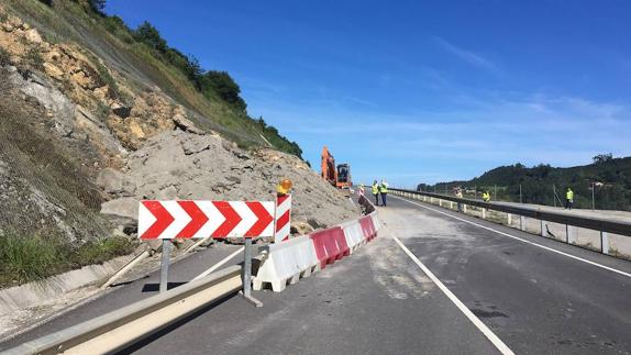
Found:
[[[440,182],[435,186],[419,184],[419,190],[438,192],[451,191],[462,186],[473,192],[489,190],[497,200],[522,201],[554,206],[554,191],[563,201],[566,187],[575,192],[575,207],[591,208],[591,186],[596,186],[595,202],[597,209],[631,211],[631,157],[613,158],[610,154],[594,157],[590,165],[568,168],[540,164],[525,167],[522,164],[500,166],[467,181]],[[496,192],[497,191],[497,192]],[[468,193],[467,196],[472,196]],[[560,204],[558,199],[556,204]]]

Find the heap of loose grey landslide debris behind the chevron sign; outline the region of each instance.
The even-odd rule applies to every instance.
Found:
[[[217,134],[164,132],[126,160],[122,173],[104,169],[97,179],[114,197],[103,203],[102,212],[126,228],[136,223],[140,199],[273,200],[283,178],[294,181],[295,233],[359,214],[296,156],[268,148],[246,152]]]

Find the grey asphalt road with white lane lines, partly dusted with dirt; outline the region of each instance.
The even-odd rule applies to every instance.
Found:
[[[123,353],[494,354],[499,342],[517,354],[630,354],[631,263],[436,207],[389,202],[379,208],[379,237],[284,292],[254,292],[263,308],[229,297]],[[177,263],[173,279],[230,252]],[[144,297],[155,277],[0,350]]]

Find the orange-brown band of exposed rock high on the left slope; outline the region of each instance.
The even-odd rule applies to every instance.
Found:
[[[186,110],[158,88],[134,93],[123,76],[75,44],[49,44],[36,29],[9,16],[1,26],[0,46],[16,64],[26,62],[30,51],[41,54],[42,68],[75,104],[111,130],[128,149],[137,149],[148,137],[177,126],[203,133],[188,120]],[[98,113],[98,114],[97,114]]]

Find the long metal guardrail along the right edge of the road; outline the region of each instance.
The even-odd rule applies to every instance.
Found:
[[[414,191],[406,189],[389,188],[391,191],[405,192],[410,195],[427,196],[430,198],[453,201],[456,203],[463,203],[467,206],[475,206],[488,210],[511,213],[516,215],[523,215],[527,218],[532,218],[536,220],[542,220],[546,222],[561,223],[566,225],[573,225],[578,228],[584,228],[588,230],[596,230],[600,232],[620,234],[626,236],[631,236],[631,223],[622,221],[611,221],[589,217],[580,217],[568,213],[541,211],[533,208],[508,206],[495,202],[484,202],[478,200],[458,198],[455,196],[432,193],[424,191]]]

